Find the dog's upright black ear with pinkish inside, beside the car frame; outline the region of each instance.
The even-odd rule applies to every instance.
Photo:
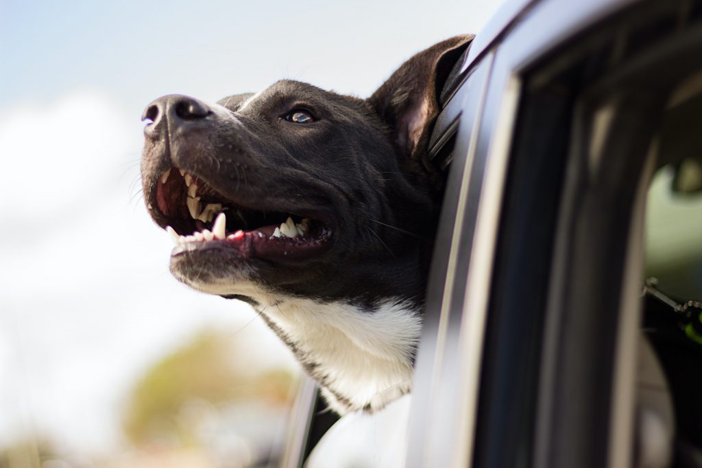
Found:
[[[403,155],[426,151],[432,123],[439,113],[439,94],[472,34],[439,42],[404,62],[368,99],[388,123]]]

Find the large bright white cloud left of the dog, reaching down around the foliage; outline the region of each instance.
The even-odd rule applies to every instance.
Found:
[[[171,240],[130,201],[140,123],[114,100],[76,92],[5,115],[0,443],[38,429],[68,448],[114,444],[135,378],[204,326],[253,320],[237,339],[255,337],[262,365],[291,364],[248,306],[168,274]]]

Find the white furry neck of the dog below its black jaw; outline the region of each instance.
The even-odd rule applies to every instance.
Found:
[[[417,305],[385,300],[362,309],[278,297],[256,308],[338,413],[377,410],[411,390],[421,328]]]

